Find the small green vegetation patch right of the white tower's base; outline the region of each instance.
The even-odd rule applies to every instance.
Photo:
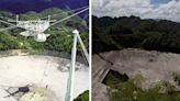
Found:
[[[85,91],[82,94],[80,94],[74,101],[89,101],[89,90]]]

